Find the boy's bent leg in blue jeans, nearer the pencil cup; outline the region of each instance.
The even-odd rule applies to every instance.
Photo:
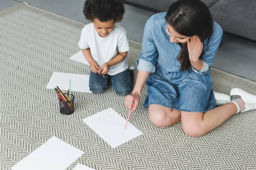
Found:
[[[108,75],[104,75],[105,77],[102,77],[99,73],[93,73],[90,71],[90,78],[89,78],[89,88],[90,91],[93,93],[102,93],[107,88],[107,81],[108,81]]]

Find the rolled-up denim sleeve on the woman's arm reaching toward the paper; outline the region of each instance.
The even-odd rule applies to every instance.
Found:
[[[157,48],[153,40],[152,28],[153,17],[149,18],[145,24],[142,51],[140,57],[137,59],[137,69],[149,73],[154,73],[158,55]]]

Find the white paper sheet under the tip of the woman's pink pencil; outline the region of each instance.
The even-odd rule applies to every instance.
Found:
[[[112,108],[89,116],[83,121],[113,148],[143,134],[130,122],[125,127],[126,119]]]

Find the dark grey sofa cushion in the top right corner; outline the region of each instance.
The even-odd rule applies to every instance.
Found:
[[[224,31],[256,40],[255,0],[220,0],[209,9]]]

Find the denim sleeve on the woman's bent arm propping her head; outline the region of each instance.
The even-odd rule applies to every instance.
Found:
[[[198,71],[192,67],[192,70],[198,74],[205,74],[211,68],[212,62],[221,43],[221,37],[223,34],[223,30],[221,28],[217,29],[218,31],[216,31],[214,34],[212,34],[212,37],[210,37],[206,50],[201,54],[200,59],[202,60],[204,67],[202,68],[201,71]]]

